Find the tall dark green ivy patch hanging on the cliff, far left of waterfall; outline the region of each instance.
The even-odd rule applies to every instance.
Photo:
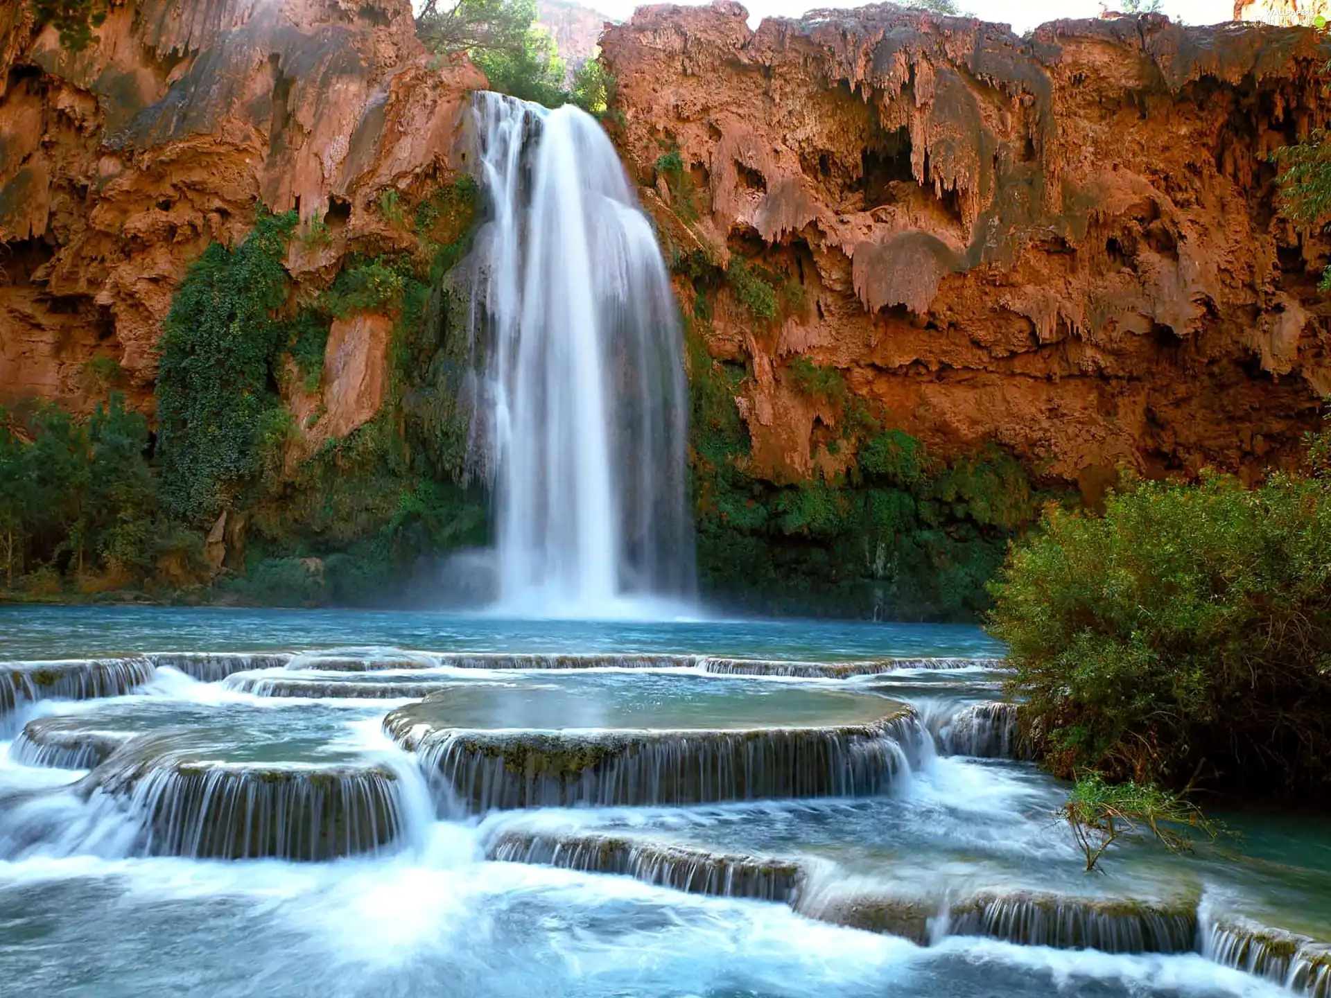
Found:
[[[273,363],[285,346],[276,313],[294,212],[260,210],[236,249],[209,246],[176,291],[158,341],[157,452],[162,500],[186,522],[224,508],[262,460],[257,430],[280,406]]]

